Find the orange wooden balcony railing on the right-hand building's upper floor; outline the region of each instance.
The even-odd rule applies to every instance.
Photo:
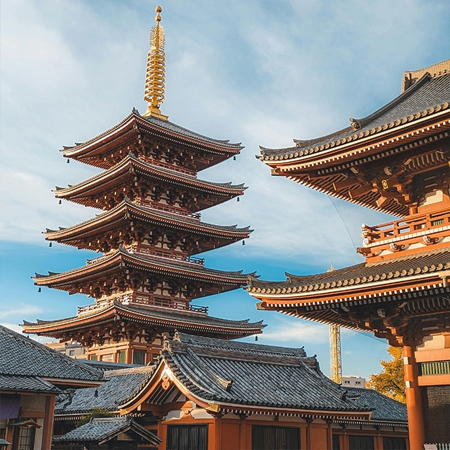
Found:
[[[374,246],[386,239],[398,238],[449,225],[450,209],[447,209],[442,212],[415,215],[376,226],[363,224],[362,237],[364,238],[365,246]]]

